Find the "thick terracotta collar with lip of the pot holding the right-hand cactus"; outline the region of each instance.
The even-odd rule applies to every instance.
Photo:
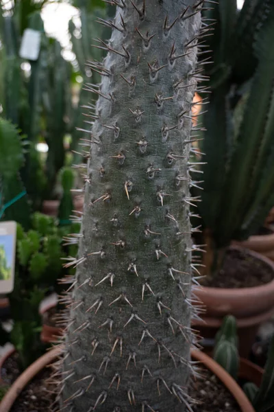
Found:
[[[242,250],[242,247],[231,247]],[[274,273],[274,264],[260,253],[249,251],[254,258],[267,264]],[[207,317],[224,317],[232,314],[238,319],[266,313],[274,308],[274,280],[253,288],[212,288],[201,286],[195,295],[205,304]]]

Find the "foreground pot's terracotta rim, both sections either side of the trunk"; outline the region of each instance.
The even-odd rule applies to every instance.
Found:
[[[0,403],[0,412],[9,412],[12,405],[14,404],[16,398],[19,396],[24,387],[29,383],[36,374],[44,367],[49,365],[55,358],[60,354],[60,348],[55,347],[47,352],[45,355],[42,355],[38,358],[32,365],[30,365],[23,374],[16,379],[13,385],[10,387],[8,393],[5,394],[1,403]],[[215,374],[225,385],[225,387],[232,393],[236,402],[238,402],[239,407],[242,409],[242,412],[255,412],[251,403],[245,396],[245,393],[240,389],[236,381],[227,374],[225,369],[218,365],[210,356],[200,352],[198,350],[191,350],[192,358],[200,361],[205,365],[213,374]]]

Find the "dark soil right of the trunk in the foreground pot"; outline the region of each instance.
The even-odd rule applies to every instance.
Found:
[[[191,385],[189,395],[199,404],[191,404],[193,412],[240,412],[238,403],[221,380],[208,369]]]

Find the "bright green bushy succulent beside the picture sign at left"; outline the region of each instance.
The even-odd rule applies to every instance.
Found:
[[[62,293],[64,277],[62,258],[71,253],[71,246],[62,243],[62,236],[79,231],[76,225],[60,228],[53,218],[36,212],[32,229],[23,231],[17,225],[16,273],[10,294],[14,327],[5,339],[16,347],[21,369],[25,369],[45,350],[40,341],[42,319],[39,307],[47,293]]]

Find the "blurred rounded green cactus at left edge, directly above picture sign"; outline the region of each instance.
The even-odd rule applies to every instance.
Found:
[[[19,175],[24,145],[16,127],[0,118],[0,220],[16,220],[27,229],[30,209]]]

